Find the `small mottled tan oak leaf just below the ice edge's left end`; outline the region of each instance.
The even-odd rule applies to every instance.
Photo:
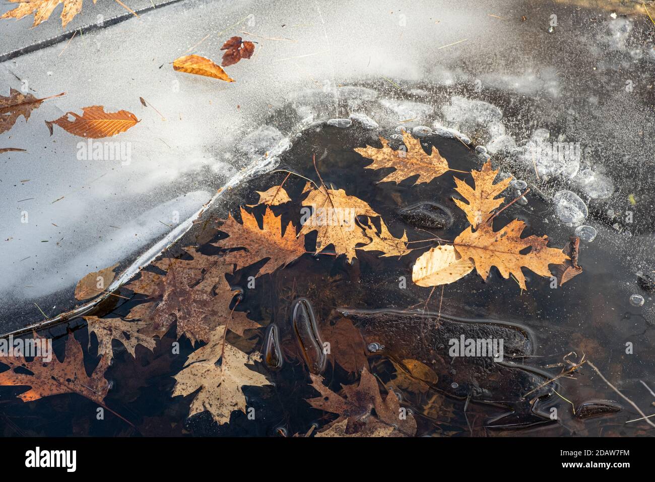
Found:
[[[84,316],[84,319],[88,323],[89,346],[91,346],[90,334],[95,333],[98,338],[98,355],[107,357],[107,359],[114,357],[111,340],[119,340],[134,358],[136,358],[137,345],[144,346],[151,351],[155,348],[154,338],[139,332],[147,325],[143,321],[123,321],[120,318],[98,318],[96,316]]]

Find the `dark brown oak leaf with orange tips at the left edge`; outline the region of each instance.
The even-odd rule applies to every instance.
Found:
[[[62,393],[78,393],[102,405],[102,400],[109,391],[109,384],[103,376],[109,367],[109,358],[102,357],[94,372],[88,376],[84,368],[82,346],[73,334],[69,334],[66,340],[63,362],[58,361],[52,353],[51,361],[45,361],[43,356],[26,361],[25,357],[20,356],[3,358],[2,363],[9,365],[9,370],[0,373],[0,385],[31,387],[27,392],[18,395],[23,401]],[[15,371],[18,368],[21,369],[20,373]],[[25,373],[25,369],[32,374]]]

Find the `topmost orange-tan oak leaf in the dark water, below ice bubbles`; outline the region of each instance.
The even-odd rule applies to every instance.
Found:
[[[407,131],[403,131],[403,142],[407,150],[394,151],[389,147],[389,141],[381,137],[382,148],[356,148],[355,151],[368,159],[373,159],[373,163],[365,166],[365,169],[384,169],[393,167],[386,177],[378,182],[396,182],[400,183],[407,178],[419,176],[414,184],[430,182],[436,177],[441,176],[448,171],[448,162],[442,157],[439,150],[432,146],[430,154],[427,154],[422,146],[421,141],[414,138]]]

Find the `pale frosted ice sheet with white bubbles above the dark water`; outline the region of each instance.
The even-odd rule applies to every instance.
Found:
[[[59,35],[58,12],[33,30],[31,17],[3,20],[3,52]],[[507,172],[540,182],[544,196],[574,191],[591,213],[585,224],[610,230],[603,238],[607,228],[596,226],[593,242],[612,243],[635,273],[652,271],[655,26],[636,7],[612,12],[517,1],[183,1],[13,56],[0,66],[3,95],[66,95],[0,134],[0,148],[28,150],[0,157],[2,331],[43,319],[35,303],[48,316],[69,310],[86,273],[125,270],[229,179],[327,119],[367,119],[373,134],[468,137]],[[66,31],[123,13],[89,2]],[[219,60],[231,35],[257,42],[252,59],[229,68],[235,83],[172,70],[190,52]],[[49,136],[43,121],[91,105],[140,119],[106,139],[129,146],[128,162],[79,159],[79,138],[57,127]],[[637,292],[633,279],[625,289]],[[647,298],[643,310],[651,306]]]

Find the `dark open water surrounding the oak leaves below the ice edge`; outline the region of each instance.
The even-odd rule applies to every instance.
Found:
[[[367,143],[377,146],[376,142],[356,121],[348,129],[316,125],[294,140],[293,148],[281,158],[280,169],[318,182],[312,164],[316,156],[318,171],[328,186],[364,199],[381,214],[392,234],[400,237],[406,231],[410,241],[434,237],[452,240],[468,226],[451,197],[455,194],[453,175],[472,182],[470,175],[447,172],[416,186],[411,179],[400,184],[376,184],[388,170],[364,169],[367,162],[353,151]],[[422,142],[424,146],[436,146],[451,169],[470,171],[480,169],[483,163],[481,156],[458,140],[431,135]],[[399,142],[392,142],[392,146],[397,148]],[[221,256],[221,250],[211,244],[225,237],[215,220],[226,218],[228,212],[238,217],[238,207],[257,202],[255,191],[279,185],[287,174],[265,174],[229,191],[205,214],[204,220],[210,221],[196,224],[164,256],[188,256],[181,248],[189,245],[197,246],[204,254]],[[282,213],[283,224],[293,220],[297,225],[305,183],[295,175],[285,182],[293,201],[290,206],[273,208],[276,214]],[[524,236],[547,234],[549,246],[563,247],[570,229],[555,221],[548,199],[538,190],[528,197],[528,205],[515,203],[498,215],[496,229],[519,218],[527,224]],[[450,225],[438,230],[408,223],[399,211],[421,201],[445,207],[452,216]],[[253,212],[261,214],[261,207]],[[590,220],[593,216],[592,212]],[[2,434],[273,436],[304,434],[312,424],[320,429],[337,415],[313,409],[305,402],[317,394],[309,385],[307,358],[299,348],[292,323],[298,298],[309,300],[319,336],[331,344],[322,372],[325,383],[337,392],[342,385],[357,384],[358,372],[368,369],[379,380],[382,393],[394,390],[400,394],[401,405],[417,420],[417,435],[646,434],[650,426],[643,421],[626,424],[640,415],[588,365],[582,365],[574,379],[559,378],[548,383],[561,371],[563,359],[574,351],[576,355],[569,355],[569,359],[580,360],[584,354],[646,414],[652,411],[654,397],[640,380],[655,387],[654,320],[643,313],[643,308],[629,304],[629,294],[636,286],[635,274],[627,260],[617,254],[616,243],[607,241],[615,238],[616,232],[603,226],[600,216],[596,220],[597,239],[583,243],[580,249],[579,262],[584,272],[556,289],[552,289],[550,279],[524,270],[528,290],[521,292],[515,281],[500,277],[496,268],[487,280],[474,271],[445,285],[443,291],[441,287],[434,292],[417,287],[411,282],[411,268],[435,241],[412,243],[417,249],[401,258],[381,258],[377,252],[358,251],[352,264],[346,262],[345,256],[305,254],[272,275],[258,277],[254,289],[248,288],[248,277],[257,272],[259,265],[228,275],[229,283],[242,290],[236,310],[247,311],[248,317],[261,325],[256,331],[246,332],[245,337],[230,333],[228,342],[246,353],[265,352],[265,338],[271,330],[267,331],[267,327],[274,323],[277,331],[279,352],[271,365],[281,363],[281,367],[256,364],[257,371],[265,374],[272,386],[244,388],[248,407],[254,407],[258,414],[254,423],[240,411],[234,411],[230,423],[221,426],[207,412],[187,419],[193,394],[171,397],[171,392],[174,374],[184,366],[194,347],[183,336],[179,355],[172,354],[173,325],[153,352],[138,346],[136,359],[119,342],[113,342],[115,357],[105,374],[111,390],[105,404],[132,426],[112,414],[102,422],[96,420],[97,405],[79,395],[56,395],[23,403],[15,397],[21,388],[1,387]],[[626,242],[636,241],[633,238]],[[307,235],[306,248],[310,251],[313,246],[314,234]],[[402,283],[402,277],[406,283]],[[133,296],[129,283],[119,293],[127,298]],[[648,296],[643,291],[638,293]],[[142,302],[138,299],[142,296],[130,300],[111,298],[96,315],[124,317]],[[66,329],[72,334],[67,334]],[[514,339],[514,344],[506,346],[504,363],[465,357],[448,363],[443,344],[460,334],[467,338],[500,336]],[[83,320],[53,327],[42,335],[55,338],[60,359],[65,338],[75,336],[85,349],[87,371],[98,363],[94,336],[86,351],[88,331]],[[384,349],[369,350],[367,346],[372,342],[379,342]],[[633,344],[632,354],[626,353],[628,342]],[[437,381],[429,386],[417,383],[405,365],[407,359],[431,366]],[[620,407],[620,411],[593,418],[573,414],[571,403],[578,409],[591,401],[600,407]],[[557,410],[555,420],[550,417],[553,408]],[[582,414],[589,412],[593,410]]]

